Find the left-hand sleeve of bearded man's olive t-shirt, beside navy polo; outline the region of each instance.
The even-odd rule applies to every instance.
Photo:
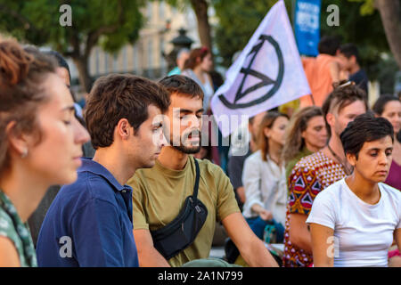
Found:
[[[146,222],[145,211],[143,208],[143,191],[144,186],[141,178],[134,175],[128,183],[132,187],[132,217],[134,230],[149,230],[149,224]]]

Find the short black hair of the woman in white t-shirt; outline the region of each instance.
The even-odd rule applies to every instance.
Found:
[[[358,159],[364,142],[373,142],[390,136],[394,142],[394,130],[386,118],[374,117],[372,111],[357,116],[340,134],[345,154],[354,154]]]

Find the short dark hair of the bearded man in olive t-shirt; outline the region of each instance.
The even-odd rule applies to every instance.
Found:
[[[187,94],[193,97],[199,97],[203,101],[203,91],[200,85],[198,85],[190,77],[184,75],[172,75],[164,77],[159,81],[160,85],[163,85],[167,90],[168,94]]]

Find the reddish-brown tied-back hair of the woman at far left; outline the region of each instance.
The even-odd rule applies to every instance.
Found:
[[[5,128],[15,122],[12,132],[35,134],[41,141],[37,108],[50,98],[43,83],[55,73],[57,63],[35,47],[24,50],[17,42],[0,42],[0,174],[10,167]]]

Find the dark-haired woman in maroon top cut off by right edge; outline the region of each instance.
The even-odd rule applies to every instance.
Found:
[[[397,97],[381,95],[374,103],[372,110],[377,116],[387,118],[394,128],[393,160],[384,183],[401,191],[401,102],[397,100]]]

